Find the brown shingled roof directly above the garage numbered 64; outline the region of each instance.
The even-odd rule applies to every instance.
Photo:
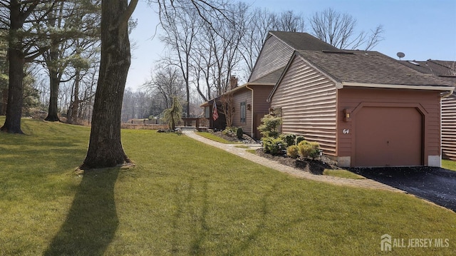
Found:
[[[403,86],[452,86],[432,74],[420,73],[377,51],[297,51],[311,65],[339,83]]]

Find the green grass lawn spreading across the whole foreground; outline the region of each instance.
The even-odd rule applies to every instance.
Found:
[[[0,133],[0,255],[385,255],[383,234],[448,241],[394,255],[456,253],[456,213],[411,195],[293,178],[154,130],[123,130],[134,168],[75,175],[88,128],[22,124]]]

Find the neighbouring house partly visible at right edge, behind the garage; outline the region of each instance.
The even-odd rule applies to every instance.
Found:
[[[432,74],[456,85],[456,61],[399,61],[405,66]],[[442,158],[456,160],[456,93],[442,97]]]

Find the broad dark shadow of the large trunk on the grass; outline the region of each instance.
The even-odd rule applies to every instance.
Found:
[[[119,171],[86,170],[68,216],[44,255],[103,255],[119,224],[114,200]]]

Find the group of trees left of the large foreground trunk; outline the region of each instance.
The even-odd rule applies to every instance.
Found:
[[[67,109],[71,106],[72,110],[70,122],[84,116],[79,108],[90,108],[83,103],[92,103],[93,78],[98,71],[100,0],[0,1],[0,31],[1,41],[8,44],[4,61],[8,64],[1,70],[8,73],[8,86],[2,85],[8,87],[8,101],[1,130],[22,133],[24,98],[33,96],[25,89],[32,85],[41,91],[36,93],[41,95],[41,103],[47,103],[46,120],[59,121],[62,83],[72,87],[71,96],[66,97]],[[47,81],[39,83],[43,75]],[[24,80],[28,76],[31,79]]]

